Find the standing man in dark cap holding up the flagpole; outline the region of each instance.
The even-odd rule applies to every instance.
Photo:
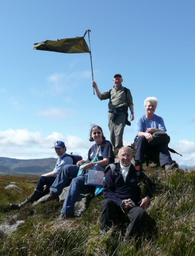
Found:
[[[124,126],[131,125],[128,121],[128,108],[131,111],[131,121],[134,120],[133,98],[131,91],[122,86],[123,77],[121,74],[114,74],[113,89],[101,93],[98,89],[98,84],[93,81],[93,87],[100,100],[108,100],[108,126],[110,131],[110,141],[113,145],[113,150],[119,150],[123,146]]]

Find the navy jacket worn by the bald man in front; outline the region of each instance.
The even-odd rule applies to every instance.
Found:
[[[113,175],[112,170],[109,170],[106,174],[106,180],[104,183],[104,198],[113,200],[116,205],[121,207],[123,200],[131,198],[136,205],[141,200],[141,188],[139,183],[141,180],[146,183],[146,196],[152,198],[154,191],[154,183],[146,176],[144,172],[137,172],[134,165],[131,164],[129,168],[128,175],[126,177],[126,182],[124,182],[123,175],[120,171],[120,163],[116,165],[114,170],[116,175]]]

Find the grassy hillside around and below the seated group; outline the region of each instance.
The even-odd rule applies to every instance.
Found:
[[[63,202],[47,202],[22,210],[9,210],[8,203],[20,202],[34,189],[28,178],[0,177],[1,224],[24,220],[12,233],[0,232],[0,255],[195,255],[195,172],[165,172],[148,168],[146,173],[157,183],[157,192],[147,209],[148,231],[139,241],[123,241],[121,227],[99,233],[103,196],[94,197],[81,218],[59,222]],[[19,182],[21,192],[5,190],[9,182]],[[156,225],[152,220],[156,220]],[[153,225],[152,225],[153,224]]]

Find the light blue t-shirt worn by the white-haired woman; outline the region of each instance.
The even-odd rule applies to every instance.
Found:
[[[153,119],[148,119],[145,115],[138,118],[136,121],[136,132],[145,132],[148,128],[158,128],[159,130],[166,131],[163,118],[161,116],[154,115]]]

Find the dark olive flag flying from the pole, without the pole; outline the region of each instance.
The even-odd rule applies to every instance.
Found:
[[[56,51],[57,53],[90,53],[84,37],[65,38],[57,41],[46,40],[41,43],[34,43],[34,49]]]

